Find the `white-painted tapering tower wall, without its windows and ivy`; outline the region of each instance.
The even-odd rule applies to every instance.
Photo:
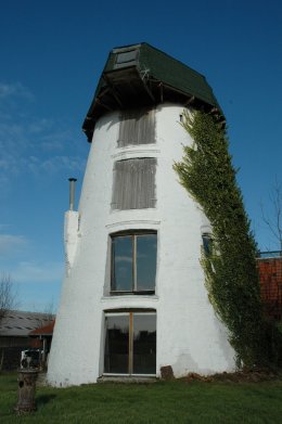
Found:
[[[215,317],[200,265],[207,219],[172,169],[191,139],[179,124],[183,107],[156,111],[156,143],[117,147],[118,113],[97,124],[79,203],[75,255],[68,267],[56,318],[48,380],[53,385],[95,382],[103,373],[104,310],[154,308],[157,316],[156,369],[176,376],[234,369],[234,351]],[[114,162],[156,157],[156,208],[111,210]],[[155,295],[108,296],[110,234],[157,231]],[[74,237],[72,239],[74,241]],[[74,247],[74,246],[73,246]]]

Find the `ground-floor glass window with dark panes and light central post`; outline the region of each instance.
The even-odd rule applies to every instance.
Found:
[[[105,314],[104,373],[156,373],[155,312]]]

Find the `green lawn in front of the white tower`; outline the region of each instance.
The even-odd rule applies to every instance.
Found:
[[[281,424],[282,382],[38,387],[37,411],[16,416],[16,375],[0,375],[0,423]]]

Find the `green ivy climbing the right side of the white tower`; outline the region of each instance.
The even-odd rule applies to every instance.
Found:
[[[256,268],[257,246],[236,183],[225,127],[204,112],[184,113],[193,143],[176,163],[180,183],[213,227],[211,249],[202,254],[209,300],[229,331],[238,364],[262,361],[262,318]]]

